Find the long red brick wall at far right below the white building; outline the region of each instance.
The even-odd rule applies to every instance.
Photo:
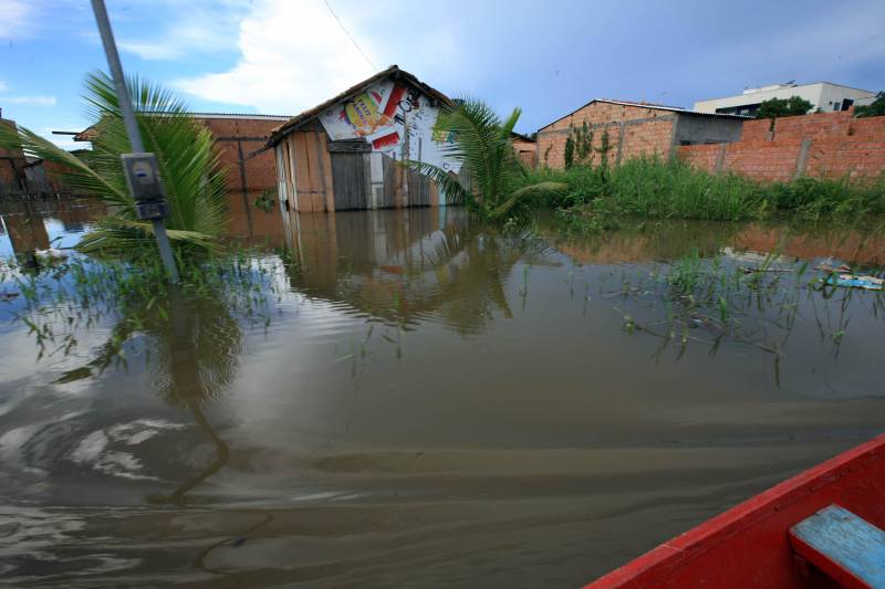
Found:
[[[690,145],[679,157],[710,171],[758,180],[798,176],[872,178],[885,170],[885,117],[852,118],[851,112],[774,120],[748,120],[739,141]]]

